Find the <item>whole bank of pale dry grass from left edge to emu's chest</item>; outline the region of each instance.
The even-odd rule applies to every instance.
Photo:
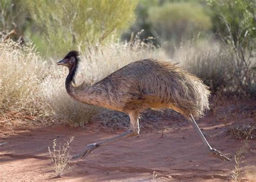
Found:
[[[55,113],[73,125],[82,125],[97,111],[95,107],[73,101],[66,94],[63,69],[47,64],[31,45],[21,46],[12,40],[0,43],[0,67],[3,116],[8,110],[37,116]]]

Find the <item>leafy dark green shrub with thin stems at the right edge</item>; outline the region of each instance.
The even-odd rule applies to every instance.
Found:
[[[233,56],[233,78],[237,79],[239,92],[255,90],[256,66],[256,3],[255,0],[208,1],[215,16],[219,35]]]

